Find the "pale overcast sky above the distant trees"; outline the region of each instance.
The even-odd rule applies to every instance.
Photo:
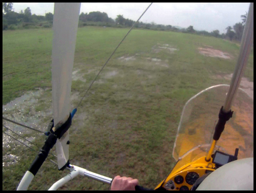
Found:
[[[117,15],[137,21],[150,3],[82,3],[81,12],[100,11],[115,19]],[[45,15],[54,10],[54,3],[14,3],[15,12],[30,7],[32,14]],[[249,3],[153,3],[142,22],[179,26],[194,26],[196,30],[223,33],[227,26],[241,22],[240,15],[248,11]]]

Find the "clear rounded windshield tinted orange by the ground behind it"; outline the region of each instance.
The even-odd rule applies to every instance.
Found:
[[[184,106],[175,140],[173,157],[193,161],[205,156],[210,147],[229,85],[210,87],[192,97]],[[238,89],[232,104],[233,117],[227,121],[216,148],[238,159],[253,156],[253,99]]]

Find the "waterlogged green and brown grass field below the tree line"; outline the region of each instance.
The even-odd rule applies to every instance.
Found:
[[[95,27],[78,30],[73,106],[126,32]],[[198,48],[207,46],[228,53],[230,59],[201,55]],[[38,128],[46,130],[52,118],[51,48],[51,29],[3,31],[4,116],[14,119],[17,115],[28,125],[36,120]],[[229,80],[215,77],[233,72],[238,53],[237,44],[214,37],[133,30],[78,108],[70,128],[71,163],[109,177],[129,175],[154,188],[175,164],[172,149],[185,102],[209,86],[228,84]],[[253,53],[245,77],[253,82]],[[4,110],[4,105],[28,91],[40,93],[36,102],[27,100],[22,108]],[[36,137],[39,146],[45,139],[25,130],[23,135]],[[14,190],[36,154],[16,142],[4,145],[4,136],[3,190]],[[67,173],[46,161],[29,189],[48,189]],[[77,177],[60,189],[109,186]]]

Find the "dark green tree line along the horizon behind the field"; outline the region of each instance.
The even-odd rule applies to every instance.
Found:
[[[182,33],[191,33],[202,36],[214,36],[216,38],[233,39],[240,41],[246,21],[247,13],[241,15],[242,22],[236,23],[233,28],[228,26],[226,28],[226,34],[220,34],[219,30],[212,32],[196,31],[193,26],[189,26],[187,29],[178,28],[172,25],[160,25],[154,22],[152,23],[136,23],[133,20],[125,19],[123,15],[116,16],[115,20],[109,18],[104,12],[90,12],[81,13],[79,16],[79,27],[84,26],[102,26],[102,27],[115,27],[126,28],[132,27],[135,23],[135,28],[160,30],[160,31],[175,31]],[[15,30],[17,28],[51,28],[53,25],[53,14],[46,13],[45,16],[32,15],[31,9],[28,7],[20,13],[13,11],[13,3],[3,3],[3,30]]]

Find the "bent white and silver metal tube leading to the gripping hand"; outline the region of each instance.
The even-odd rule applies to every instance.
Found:
[[[78,175],[82,175],[85,177],[90,177],[92,179],[95,179],[97,181],[101,181],[103,183],[109,184],[111,183],[112,179],[109,177],[105,177],[103,175],[93,173],[91,171],[88,171],[87,169],[78,167],[76,165],[72,165],[70,167],[71,172],[67,174],[65,177],[61,178],[60,180],[56,181],[49,190],[57,190],[59,187],[67,183],[69,180],[73,179],[74,177]]]

